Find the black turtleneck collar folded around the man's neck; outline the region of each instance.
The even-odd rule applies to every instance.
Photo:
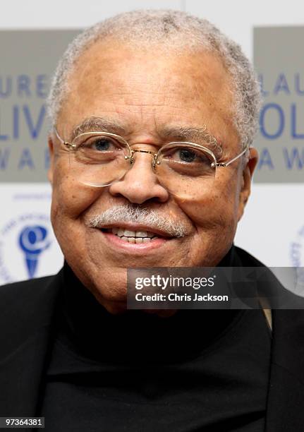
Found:
[[[233,265],[234,247],[219,263]],[[58,302],[60,340],[92,360],[166,363],[196,356],[230,327],[241,311],[180,310],[169,318],[143,311],[111,315],[67,263]]]

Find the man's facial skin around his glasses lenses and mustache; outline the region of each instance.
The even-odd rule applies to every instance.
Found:
[[[57,122],[66,141],[75,126],[99,117],[111,124],[108,132],[122,135],[123,127],[123,138],[131,148],[155,151],[177,140],[171,130],[206,125],[221,143],[220,161],[242,150],[233,126],[229,75],[221,61],[207,52],[165,55],[154,49],[136,51],[114,42],[97,43],[81,56],[69,85]],[[56,237],[75,274],[109,311],[125,307],[126,268],[211,266],[229,251],[250,192],[253,159],[245,169],[242,158],[219,167],[212,188],[181,199],[159,183],[147,153],[135,154],[133,167],[120,181],[92,187],[75,175],[68,150],[59,140],[50,138],[50,148],[51,220]],[[150,227],[133,222],[107,224],[107,232],[90,227],[93,217],[121,205],[154,210],[159,217],[182,224],[185,235],[128,244],[111,228],[149,232]],[[164,234],[154,229],[152,233]]]

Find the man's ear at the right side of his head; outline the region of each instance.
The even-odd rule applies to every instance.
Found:
[[[245,166],[243,167],[242,186],[240,191],[240,199],[238,202],[238,221],[243,216],[245,205],[248,201],[251,191],[251,181],[253,179],[253,172],[259,160],[259,154],[256,148],[249,148],[249,156]]]

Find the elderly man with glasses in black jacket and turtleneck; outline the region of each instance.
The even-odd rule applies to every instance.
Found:
[[[183,12],[123,13],[72,42],[49,95],[65,263],[1,288],[1,416],[56,432],[303,430],[301,313],[273,313],[272,337],[262,310],[126,308],[128,268],[262,265],[233,246],[259,104],[238,45]]]

